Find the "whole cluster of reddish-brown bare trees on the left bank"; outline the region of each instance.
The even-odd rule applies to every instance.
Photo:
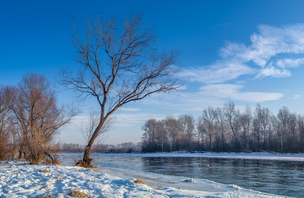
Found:
[[[0,85],[0,160],[18,156],[36,165],[57,163],[59,129],[79,113],[59,104],[45,76],[26,73],[16,86]]]

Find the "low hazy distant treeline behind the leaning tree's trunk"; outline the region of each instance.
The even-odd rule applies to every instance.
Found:
[[[74,143],[63,143],[61,145],[61,152],[84,152],[86,145],[74,144]],[[100,144],[94,145],[93,152],[140,152],[141,151],[141,142],[124,142],[121,144]]]

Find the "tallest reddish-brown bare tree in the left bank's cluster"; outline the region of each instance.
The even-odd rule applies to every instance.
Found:
[[[59,128],[70,123],[79,113],[73,105],[58,105],[57,94],[50,82],[40,74],[26,73],[18,84],[16,100],[12,106],[15,122],[22,140],[22,152],[36,165],[45,155],[51,155],[51,145]],[[28,153],[26,153],[28,151]]]

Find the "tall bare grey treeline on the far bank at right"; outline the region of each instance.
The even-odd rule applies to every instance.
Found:
[[[150,118],[142,130],[143,152],[304,152],[304,116],[285,106],[275,115],[259,103],[240,112],[229,102],[205,108],[198,118]]]

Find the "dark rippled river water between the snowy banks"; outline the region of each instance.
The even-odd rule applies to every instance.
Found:
[[[63,164],[72,165],[77,157],[63,155]],[[93,157],[98,166],[208,179],[264,193],[304,198],[304,162],[200,157]]]

